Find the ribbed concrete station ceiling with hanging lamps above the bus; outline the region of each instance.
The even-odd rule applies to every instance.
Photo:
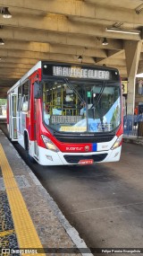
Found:
[[[112,66],[142,41],[141,0],[0,0],[0,98],[39,60]],[[138,72],[142,70],[143,48]]]

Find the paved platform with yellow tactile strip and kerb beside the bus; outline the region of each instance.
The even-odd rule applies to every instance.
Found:
[[[2,130],[0,248],[0,255],[77,255],[81,248],[89,255],[86,243],[21,160]]]

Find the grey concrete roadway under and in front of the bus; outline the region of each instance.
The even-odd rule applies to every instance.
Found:
[[[29,166],[89,247],[143,247],[142,146],[123,144],[119,163]]]

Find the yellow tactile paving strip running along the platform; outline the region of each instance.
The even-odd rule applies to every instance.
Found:
[[[13,224],[17,235],[19,247],[20,249],[42,249],[43,247],[39,240],[37,231],[35,229],[35,226],[33,225],[31,217],[29,216],[29,211],[26,207],[24,199],[22,198],[18,184],[14,179],[13,171],[10,167],[10,164],[8,163],[6,155],[4,154],[4,149],[1,144],[0,156],[0,166],[3,173],[5,190],[13,216]],[[26,256],[29,255],[29,253],[21,253],[21,255]],[[46,256],[45,253],[38,253],[37,255]]]

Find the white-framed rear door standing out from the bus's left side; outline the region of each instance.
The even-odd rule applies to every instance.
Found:
[[[17,141],[17,94],[11,93],[10,95],[10,137],[13,141]]]

